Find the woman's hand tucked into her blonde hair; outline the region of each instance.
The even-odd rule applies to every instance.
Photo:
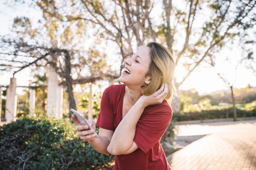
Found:
[[[152,95],[149,95],[149,96],[142,95],[139,98],[139,100],[140,102],[142,102],[144,107],[153,105],[153,104],[161,104],[166,98],[167,93],[168,93],[168,87],[167,87],[167,84],[165,83],[161,86],[161,88],[158,91],[156,91]]]

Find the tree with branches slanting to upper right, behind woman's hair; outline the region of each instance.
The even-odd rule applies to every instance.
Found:
[[[212,57],[213,53],[222,49],[226,42],[234,39],[236,35],[240,35],[241,30],[247,31],[256,24],[254,19],[256,2],[253,0],[238,2],[232,0],[209,0],[202,2],[189,0],[187,1],[187,5],[189,5],[188,12],[186,12],[187,8],[182,12],[173,7],[172,1],[167,3],[164,0],[163,2],[165,7],[163,16],[167,18],[167,24],[162,26],[163,30],[160,33],[164,34],[169,49],[177,54],[176,65],[181,63],[188,68],[187,75],[179,84],[182,84],[206,57],[209,60],[214,60],[214,57]],[[211,15],[209,20],[205,20],[202,26],[193,30],[193,23],[196,19],[202,19],[200,16],[196,17],[197,13],[202,12],[202,7],[209,9]],[[168,18],[171,17],[170,11],[175,12],[175,10],[177,12],[173,15],[175,15],[174,19],[177,22],[174,22],[176,24],[171,26],[171,24],[168,24]],[[203,12],[202,14],[205,17],[206,13]],[[175,40],[175,35],[179,31],[177,30],[179,22],[186,25],[186,28],[181,30],[186,33],[181,51],[173,50],[175,41],[171,41]],[[198,35],[198,38],[193,36],[193,38],[197,39],[196,41],[191,40],[191,35],[193,34]],[[187,59],[185,62],[180,61],[182,56],[184,56],[184,59]],[[190,60],[191,62],[187,62],[189,59],[192,59]]]

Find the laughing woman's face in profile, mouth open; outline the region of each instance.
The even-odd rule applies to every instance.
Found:
[[[150,48],[147,46],[139,46],[136,53],[132,57],[125,60],[125,68],[119,77],[119,81],[126,86],[142,86],[149,83],[150,77],[146,76],[150,64]]]

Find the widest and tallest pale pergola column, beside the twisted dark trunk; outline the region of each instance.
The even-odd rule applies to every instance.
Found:
[[[47,86],[47,115],[57,117],[57,98],[58,98],[58,74],[53,66],[49,66],[49,77]]]

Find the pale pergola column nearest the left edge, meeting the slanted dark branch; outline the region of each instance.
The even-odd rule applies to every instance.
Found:
[[[16,78],[11,78],[10,85],[7,88],[6,108],[5,108],[6,123],[8,124],[11,121],[16,121],[16,114],[17,114]]]

